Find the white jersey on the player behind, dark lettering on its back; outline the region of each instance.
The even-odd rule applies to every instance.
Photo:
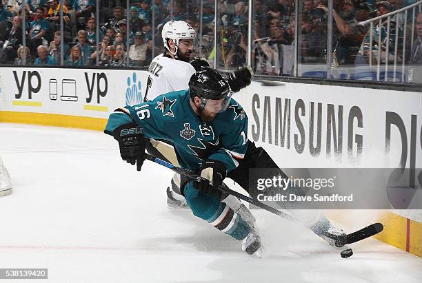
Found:
[[[148,80],[143,101],[152,101],[161,94],[188,90],[189,80],[195,69],[190,63],[160,54],[148,67]]]

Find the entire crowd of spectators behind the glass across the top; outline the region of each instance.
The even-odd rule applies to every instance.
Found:
[[[421,42],[422,25],[419,35],[412,13],[408,13],[408,19],[404,19],[403,14],[392,17],[390,28],[387,21],[382,21],[381,26],[376,22],[372,32],[369,25],[360,24],[409,6],[414,1],[334,0],[333,65],[368,65],[370,57],[371,63],[376,63],[378,52],[381,52],[383,62],[396,57],[398,63],[422,63],[422,54],[419,56],[422,45],[421,51],[412,48]],[[221,1],[219,50],[214,50],[214,0],[131,0],[128,10],[125,8],[126,1],[102,0],[98,50],[95,19],[98,7],[95,0],[28,0],[27,3],[25,34],[29,52],[23,52],[21,1],[0,0],[2,63],[22,63],[23,54],[26,54],[27,64],[61,65],[63,52],[63,65],[90,66],[98,60],[99,65],[106,67],[147,66],[153,54],[163,51],[161,28],[171,19],[187,21],[197,30],[199,45],[192,56],[201,55],[210,62],[218,56],[217,67],[239,67],[246,64],[248,57],[248,1],[245,0]],[[200,3],[203,3],[202,9]],[[252,65],[255,72],[292,74],[296,44],[299,44],[299,63],[326,63],[326,0],[254,0],[253,3]],[[300,12],[296,15],[298,4]],[[418,15],[419,9],[416,10],[416,18]],[[298,39],[295,39],[297,17],[300,26]],[[419,41],[415,41],[416,45],[406,45],[403,56],[403,41],[399,40],[397,51],[394,44],[396,36],[403,39],[407,34],[408,41],[412,38],[409,34],[411,25],[407,30],[402,28],[406,21],[414,21],[414,39]],[[372,56],[369,56],[371,52]]]

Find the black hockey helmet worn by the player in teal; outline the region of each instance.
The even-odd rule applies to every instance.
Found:
[[[230,97],[228,82],[210,67],[202,67],[192,74],[189,80],[189,94],[192,100],[195,96],[205,99],[221,99]]]

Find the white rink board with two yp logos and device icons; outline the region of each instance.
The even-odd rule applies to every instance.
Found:
[[[108,118],[140,103],[145,71],[0,67],[0,111]]]

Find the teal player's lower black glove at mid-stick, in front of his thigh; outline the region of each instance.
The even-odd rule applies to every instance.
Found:
[[[194,188],[207,196],[217,193],[217,187],[223,185],[227,168],[219,160],[204,160],[201,166],[201,182],[195,181]]]

